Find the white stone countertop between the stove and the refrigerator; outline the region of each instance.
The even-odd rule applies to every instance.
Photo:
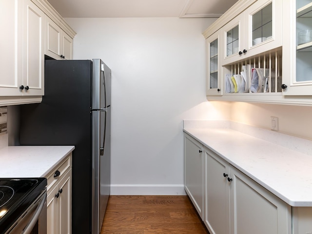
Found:
[[[45,177],[74,146],[8,146],[0,149],[0,178]]]

